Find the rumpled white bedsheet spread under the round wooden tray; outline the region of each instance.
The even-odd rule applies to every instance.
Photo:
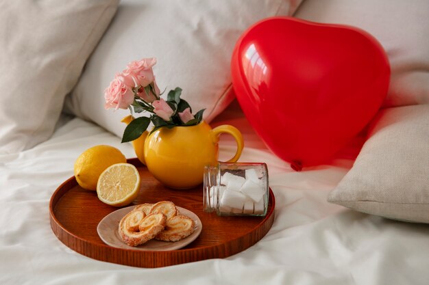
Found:
[[[74,118],[32,150],[0,156],[0,284],[429,284],[428,226],[326,202],[352,159],[293,172],[265,148],[242,115],[227,110],[214,124],[223,123],[243,132],[240,161],[269,165],[275,221],[256,245],[229,258],[158,269],[73,252],[49,225],[53,191],[73,176],[73,163],[86,148],[108,144],[135,157],[130,144]],[[223,138],[221,158],[234,151],[232,140]]]

